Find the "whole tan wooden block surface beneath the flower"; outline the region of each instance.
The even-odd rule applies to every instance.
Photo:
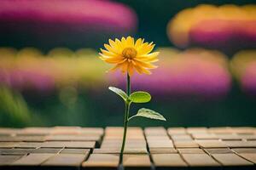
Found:
[[[0,127],[0,169],[256,169],[256,127]]]

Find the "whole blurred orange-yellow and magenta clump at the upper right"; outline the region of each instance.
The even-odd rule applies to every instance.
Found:
[[[168,35],[177,47],[200,46],[235,53],[256,48],[256,5],[198,5],[179,12]]]

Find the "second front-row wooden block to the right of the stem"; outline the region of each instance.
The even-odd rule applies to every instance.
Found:
[[[179,154],[152,154],[154,166],[156,169],[160,167],[187,167]]]

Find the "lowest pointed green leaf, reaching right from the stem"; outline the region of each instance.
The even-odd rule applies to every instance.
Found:
[[[160,120],[160,121],[166,121],[166,118],[164,116],[162,116],[160,113],[158,113],[156,111],[152,111],[150,109],[146,109],[146,108],[142,108],[139,111],[137,111],[137,115],[135,115],[135,116],[143,116],[143,117],[147,117],[149,119],[156,119],[156,120]],[[135,116],[131,116],[129,118],[129,121],[131,120],[131,118],[133,118]]]

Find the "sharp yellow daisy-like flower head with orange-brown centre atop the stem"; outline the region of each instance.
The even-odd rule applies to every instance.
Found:
[[[109,45],[104,44],[106,49],[102,49],[100,53],[103,61],[109,64],[115,64],[110,71],[120,69],[122,72],[131,76],[136,70],[140,74],[151,74],[149,69],[154,69],[157,66],[151,63],[158,61],[157,55],[159,52],[150,53],[153,48],[153,42],[144,42],[144,39],[139,38],[134,42],[133,37],[122,37],[121,41],[109,39]]]

